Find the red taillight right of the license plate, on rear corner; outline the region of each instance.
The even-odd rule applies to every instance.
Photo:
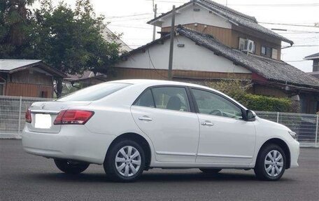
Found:
[[[93,116],[93,111],[68,109],[62,110],[55,118],[55,125],[60,124],[85,124]]]

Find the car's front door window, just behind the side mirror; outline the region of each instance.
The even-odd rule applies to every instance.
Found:
[[[192,89],[199,113],[228,118],[242,118],[241,109],[225,97],[205,90]]]

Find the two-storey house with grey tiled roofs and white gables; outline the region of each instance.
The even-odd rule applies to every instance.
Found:
[[[167,78],[171,14],[148,22],[161,27],[160,39],[123,55],[113,78]],[[281,60],[281,43],[293,41],[209,0],[179,6],[175,22],[173,80],[252,81],[254,94],[293,97],[300,99],[303,113],[318,111],[318,79]]]

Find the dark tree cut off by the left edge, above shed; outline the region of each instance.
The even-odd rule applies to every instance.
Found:
[[[32,55],[31,11],[34,0],[0,1],[0,57],[26,58]]]

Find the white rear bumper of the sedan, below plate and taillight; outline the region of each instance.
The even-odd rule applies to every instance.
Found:
[[[64,125],[59,133],[31,132],[24,127],[24,151],[47,158],[65,158],[102,164],[115,136],[96,134],[85,125]]]

